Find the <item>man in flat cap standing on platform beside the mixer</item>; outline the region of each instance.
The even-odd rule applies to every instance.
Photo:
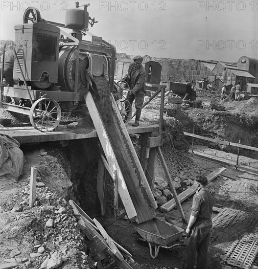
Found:
[[[132,62],[128,68],[128,71],[122,80],[126,81],[129,85],[128,94],[126,100],[133,105],[135,100],[135,122],[132,126],[139,126],[139,121],[141,117],[141,108],[144,100],[145,94],[145,69],[141,65],[143,58],[140,55],[137,55],[133,58]]]

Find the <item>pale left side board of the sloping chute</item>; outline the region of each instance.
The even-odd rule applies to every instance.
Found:
[[[92,117],[95,130],[98,134],[99,141],[102,145],[103,151],[107,157],[108,164],[111,167],[111,169],[117,170],[117,179],[118,179],[118,193],[121,197],[121,200],[123,202],[125,211],[127,213],[127,216],[129,219],[136,217],[137,212],[135,210],[133,201],[130,197],[130,194],[128,192],[126,183],[124,181],[122,172],[119,168],[117,158],[115,156],[115,152],[113,150],[113,147],[111,145],[111,142],[109,140],[109,136],[106,132],[106,129],[104,128],[104,124],[102,122],[101,116],[98,113],[98,110],[95,106],[93,97],[90,92],[85,95],[85,101],[87,104],[87,108],[89,109],[90,115]]]

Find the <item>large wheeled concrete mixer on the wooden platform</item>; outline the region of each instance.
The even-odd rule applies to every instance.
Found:
[[[29,7],[23,24],[15,25],[15,83],[4,87],[3,104],[8,111],[29,115],[41,132],[54,130],[63,111],[85,108],[84,95],[88,91],[98,95],[94,77],[99,76],[109,82],[124,121],[132,114],[130,104],[116,94],[115,47],[89,32],[89,24],[96,23],[89,16],[89,5],[82,9],[76,2],[75,8],[66,10],[65,24],[46,21],[37,8]],[[92,41],[82,39],[86,34]]]

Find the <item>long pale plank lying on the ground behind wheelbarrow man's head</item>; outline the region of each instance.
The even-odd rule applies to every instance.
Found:
[[[223,171],[225,171],[226,168],[218,168],[214,172],[212,172],[208,177],[208,183],[211,182],[211,180],[215,179],[217,176],[219,176]],[[189,187],[187,190],[183,191],[178,195],[178,199],[180,202],[184,202],[188,197],[192,196],[196,192],[197,188],[195,186]],[[175,199],[166,202],[164,205],[161,206],[161,209],[165,210],[166,212],[172,210],[177,206],[177,203],[175,202]]]

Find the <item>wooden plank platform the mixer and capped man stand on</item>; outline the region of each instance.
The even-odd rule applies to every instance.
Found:
[[[128,134],[142,134],[152,133],[159,130],[158,124],[149,122],[141,122],[140,126],[133,127],[128,125],[126,127]],[[86,139],[97,137],[97,133],[94,127],[88,128],[64,128],[64,130],[52,131],[48,133],[42,133],[33,127],[14,127],[14,128],[1,128],[0,134],[10,135],[16,139],[20,144],[27,143],[40,143],[49,141],[61,141],[61,140],[74,140],[74,139]]]

